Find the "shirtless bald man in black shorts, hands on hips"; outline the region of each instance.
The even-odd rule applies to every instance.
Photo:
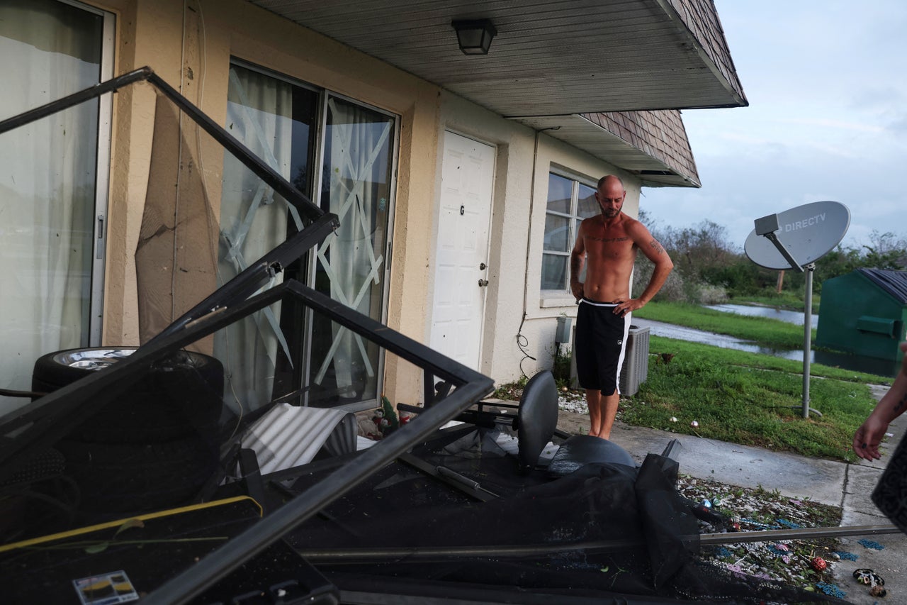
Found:
[[[674,268],[649,230],[621,212],[626,196],[617,176],[601,178],[595,192],[601,214],[580,223],[570,263],[571,292],[580,303],[574,342],[577,376],[589,404],[589,434],[603,439],[610,438],[618,412],[620,366],[631,313],[652,300]],[[639,298],[630,298],[629,278],[638,250],[655,263],[655,269],[646,290]],[[583,264],[585,283],[580,282]]]

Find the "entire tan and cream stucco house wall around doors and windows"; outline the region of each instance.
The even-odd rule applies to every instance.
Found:
[[[420,342],[428,342],[431,332],[439,142],[449,129],[495,145],[489,288],[479,370],[507,382],[523,371],[550,367],[556,318],[561,313],[573,316],[576,309],[569,295],[541,301],[549,171],[557,166],[593,182],[602,174],[620,174],[628,188],[625,211],[634,216],[639,207],[637,179],[241,0],[113,0],[98,6],[118,17],[114,73],[150,65],[216,122],[225,118],[231,56],[401,116],[386,322]],[[118,94],[114,107],[103,332],[109,344],[138,342],[133,256],[148,189],[154,104],[151,86],[141,84]],[[219,194],[211,192],[219,192],[222,164],[219,158],[205,164],[209,169],[203,178],[216,216]],[[205,293],[200,287],[198,298]],[[518,346],[518,334],[525,352]],[[537,361],[524,360],[525,355]],[[387,360],[385,392],[393,400],[420,401],[421,388],[421,376],[394,358]]]

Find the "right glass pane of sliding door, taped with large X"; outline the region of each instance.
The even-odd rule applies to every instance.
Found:
[[[315,288],[378,322],[384,319],[395,125],[390,115],[327,95],[320,202],[340,227],[318,246]],[[313,397],[352,409],[380,405],[381,363],[374,343],[336,323],[313,323]]]

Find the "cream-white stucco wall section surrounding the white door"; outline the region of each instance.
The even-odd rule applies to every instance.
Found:
[[[541,368],[551,368],[557,317],[561,313],[576,316],[576,304],[569,293],[541,300],[541,249],[549,172],[552,168],[566,170],[592,183],[605,174],[618,174],[627,187],[624,211],[633,217],[639,213],[639,179],[456,95],[444,93],[442,98],[439,135],[446,129],[497,146],[489,286],[479,370],[495,382],[510,382],[522,372],[532,375]],[[440,172],[436,178],[440,179]],[[437,233],[436,208],[432,228]],[[434,258],[432,262],[434,265]],[[425,278],[427,338],[434,274],[429,272]],[[518,345],[518,334],[524,339],[525,353]]]

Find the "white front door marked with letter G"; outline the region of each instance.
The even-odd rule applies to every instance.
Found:
[[[488,279],[494,147],[444,133],[431,346],[479,369]]]

